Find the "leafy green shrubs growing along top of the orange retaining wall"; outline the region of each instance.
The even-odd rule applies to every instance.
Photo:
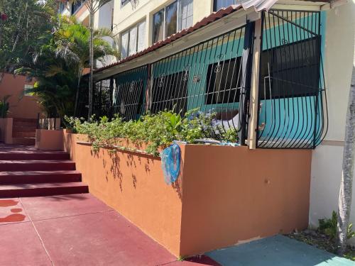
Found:
[[[197,139],[213,138],[214,117],[215,113],[202,113],[194,109],[188,111],[185,116],[173,111],[160,111],[128,122],[119,116],[115,116],[111,121],[106,116],[98,121],[92,118],[91,122],[68,117],[65,117],[65,121],[73,133],[88,135],[94,149],[114,145],[117,138],[127,138],[136,144],[145,143],[147,153],[159,155],[158,150],[166,148],[174,140],[193,143]],[[221,138],[222,141],[236,142],[237,133],[234,129],[229,129],[222,133]]]

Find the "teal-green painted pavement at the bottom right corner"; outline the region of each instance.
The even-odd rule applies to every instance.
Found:
[[[300,241],[276,235],[223,250],[207,253],[224,266],[354,266],[355,262],[337,257]]]

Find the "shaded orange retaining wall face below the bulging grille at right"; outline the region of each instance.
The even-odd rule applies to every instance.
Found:
[[[311,152],[187,145],[180,253],[307,228]]]

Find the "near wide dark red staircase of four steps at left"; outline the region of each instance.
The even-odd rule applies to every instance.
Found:
[[[0,149],[0,198],[88,193],[81,180],[67,153]]]

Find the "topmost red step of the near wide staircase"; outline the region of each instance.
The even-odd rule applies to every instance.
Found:
[[[0,148],[0,160],[69,160],[69,153],[62,151],[5,151]]]

